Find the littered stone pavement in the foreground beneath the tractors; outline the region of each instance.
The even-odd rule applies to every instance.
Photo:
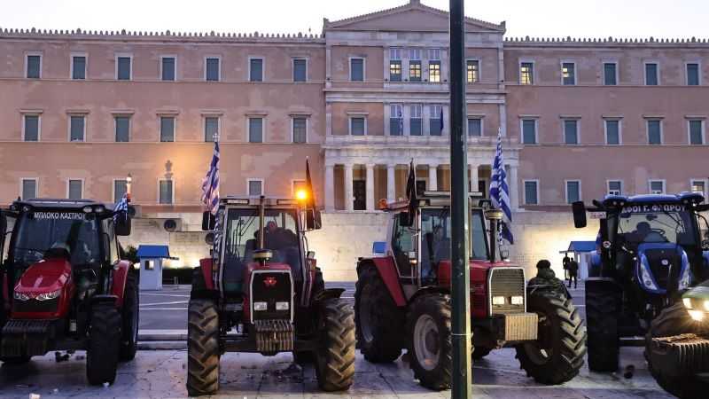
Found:
[[[77,352],[82,356],[82,352]],[[289,371],[292,356],[264,357],[228,353],[222,356],[223,398],[445,398],[449,391],[431,392],[418,386],[409,365],[370,364],[357,355],[354,386],[347,393],[326,394],[317,388],[312,367]],[[475,364],[477,398],[667,398],[647,372],[642,348],[623,348],[623,365],[634,364],[635,376],[589,373],[558,387],[545,387],[526,378],[518,368],[514,349],[492,352]],[[54,356],[33,358],[24,366],[0,367],[0,398],[178,398],[185,397],[187,354],[184,350],[140,351],[134,362],[121,364],[111,387],[87,387],[84,360],[72,357],[57,364]]]

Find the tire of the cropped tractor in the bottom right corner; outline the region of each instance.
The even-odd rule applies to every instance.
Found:
[[[683,333],[702,332],[695,323],[687,309],[684,309],[682,301],[663,309],[658,317],[655,317],[650,325],[645,340],[645,357],[648,360],[648,369],[658,385],[672,395],[679,398],[705,397],[709,384],[701,381],[692,375],[674,377],[663,372],[661,367],[653,367],[650,356],[652,338],[672,337]]]

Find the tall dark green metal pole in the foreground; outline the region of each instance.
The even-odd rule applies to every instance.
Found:
[[[463,0],[450,0],[450,218],[453,384],[451,397],[472,396],[468,144],[465,136]]]

